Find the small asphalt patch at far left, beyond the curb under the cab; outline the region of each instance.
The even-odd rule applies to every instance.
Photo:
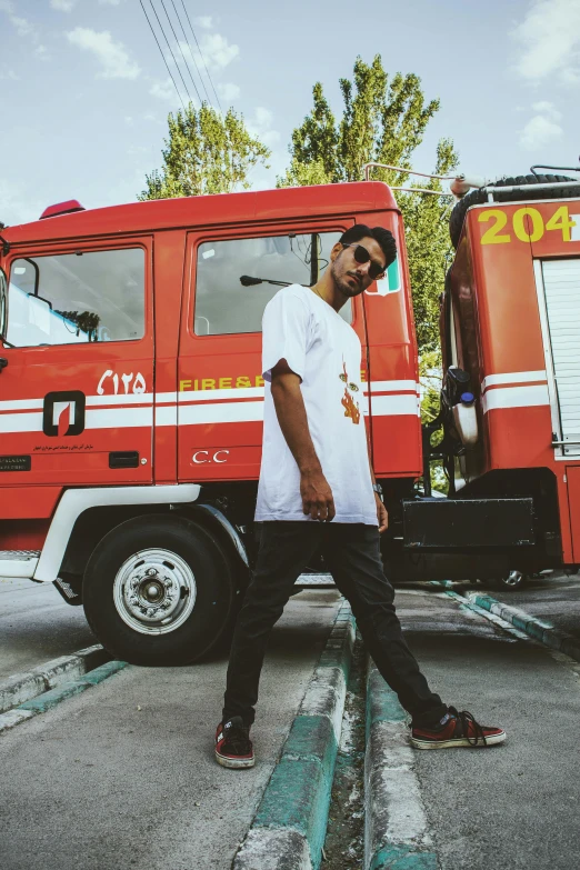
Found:
[[[92,643],[82,607],[52,583],[0,579],[0,681]]]

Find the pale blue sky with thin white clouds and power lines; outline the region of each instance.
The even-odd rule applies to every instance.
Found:
[[[340,114],[339,79],[358,56],[370,63],[381,54],[391,74],[417,73],[426,98],[441,100],[418,171],[431,171],[441,137],[453,140],[461,171],[486,178],[580,163],[580,0],[373,6],[0,0],[0,221],[37,220],[67,199],[86,208],[134,201],[146,173],[161,167],[168,113],[188,99],[180,74],[196,104],[194,87],[243,114],[272,149],[270,169],[254,169],[250,181],[274,187],[312,86],[322,82]]]

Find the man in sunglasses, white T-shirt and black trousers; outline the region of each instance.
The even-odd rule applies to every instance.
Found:
[[[349,600],[377,668],[411,713],[418,749],[486,747],[506,733],[447,707],[403,640],[393,590],[383,573],[379,534],[387,510],[368,453],[361,346],[338,313],[380,280],[397,257],[381,227],[351,227],[312,288],[280,290],[263,316],[266,380],[263,451],[256,520],[262,522],[258,562],[238,617],[230,652],[216,759],[227,768],[254,763],[253,707],[270,631],[297,578],[322,551]]]

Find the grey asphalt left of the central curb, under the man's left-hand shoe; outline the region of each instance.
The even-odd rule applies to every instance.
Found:
[[[213,758],[223,656],[127,668],[8,731],[0,738],[2,870],[227,870],[338,602],[333,590],[302,592],[276,627],[252,770],[224,770]]]

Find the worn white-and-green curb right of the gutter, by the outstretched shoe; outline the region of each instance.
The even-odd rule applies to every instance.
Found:
[[[369,659],[364,870],[437,870],[408,741],[407,713]]]

